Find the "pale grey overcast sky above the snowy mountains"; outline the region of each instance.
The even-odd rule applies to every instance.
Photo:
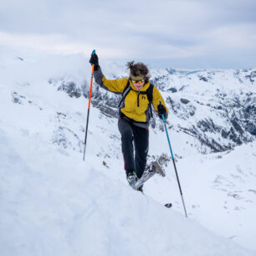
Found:
[[[255,0],[0,0],[0,48],[255,68]]]

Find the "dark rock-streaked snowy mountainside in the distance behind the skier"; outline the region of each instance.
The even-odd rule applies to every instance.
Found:
[[[165,94],[170,116],[181,120],[172,124],[173,129],[196,139],[200,145],[198,151],[228,151],[255,140],[256,94],[249,86],[255,85],[256,70],[167,71],[158,72],[151,82]],[[70,81],[49,80],[49,84],[55,84],[57,90],[65,91],[70,97],[89,96],[86,83],[77,86]],[[110,118],[118,118],[120,98],[96,84],[93,86],[92,105]],[[22,99],[13,95],[13,100],[19,103]],[[151,120],[151,126],[164,131],[160,121]]]

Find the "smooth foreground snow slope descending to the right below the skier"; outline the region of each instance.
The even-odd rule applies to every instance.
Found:
[[[77,156],[0,141],[1,255],[253,255]]]

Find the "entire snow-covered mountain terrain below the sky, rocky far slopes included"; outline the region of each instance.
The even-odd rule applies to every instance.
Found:
[[[125,181],[120,97],[95,84],[82,161],[88,59],[3,57],[1,255],[255,254],[256,69],[151,69],[170,110],[187,220],[161,120],[151,123],[148,161],[164,177],[143,196]],[[120,64],[101,66],[110,79],[127,75]]]

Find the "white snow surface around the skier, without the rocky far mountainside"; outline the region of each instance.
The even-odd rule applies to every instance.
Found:
[[[186,156],[182,136],[169,131],[182,156],[186,219],[172,162],[166,177],[147,182],[145,196],[131,190],[117,120],[94,107],[82,161],[88,100],[70,98],[49,79],[86,85],[90,66],[82,57],[66,58],[6,59],[0,67],[0,254],[256,254],[233,242],[256,250],[255,141]],[[150,140],[151,158],[168,154],[163,131],[152,129]],[[170,201],[172,209],[162,206]]]

